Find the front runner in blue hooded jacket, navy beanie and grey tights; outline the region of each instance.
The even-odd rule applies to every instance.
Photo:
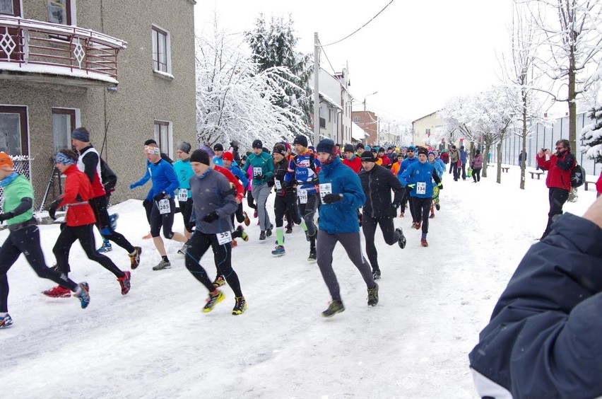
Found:
[[[343,245],[349,259],[362,274],[368,289],[368,306],[376,306],[378,303],[378,284],[372,279],[372,269],[362,255],[360,245],[360,224],[356,209],[366,200],[360,178],[338,158],[336,146],[331,139],[321,140],[316,152],[322,165],[318,173],[322,205],[319,208],[317,261],[332,298],[322,316],[331,317],[345,310],[336,274],[332,269],[332,253],[337,242]]]

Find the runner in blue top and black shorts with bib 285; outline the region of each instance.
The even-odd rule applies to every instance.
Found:
[[[144,185],[148,181],[146,175],[151,176],[153,186],[148,195],[146,195],[145,201],[153,202],[151,210],[151,236],[153,237],[155,248],[157,248],[159,255],[161,255],[161,261],[153,267],[153,270],[163,270],[172,267],[172,265],[169,258],[167,258],[163,239],[159,235],[161,227],[163,226],[163,236],[165,238],[179,241],[180,243],[187,241],[187,238],[182,234],[172,231],[175,214],[174,192],[179,182],[174,167],[161,158],[161,152],[157,144],[144,146],[144,152],[146,159],[149,161],[146,174],[136,183],[132,183],[129,189],[134,190],[134,188]]]

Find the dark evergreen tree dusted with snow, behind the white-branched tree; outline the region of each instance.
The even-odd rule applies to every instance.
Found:
[[[282,82],[282,93],[273,98],[274,105],[299,117],[304,126],[292,129],[291,132],[305,133],[312,125],[312,88],[309,78],[312,76],[311,57],[295,51],[297,37],[293,29],[293,20],[289,15],[284,18],[271,18],[269,25],[263,14],[255,21],[255,28],[244,33],[253,52],[252,60],[259,66],[259,71],[280,67],[279,77]],[[291,121],[293,122],[293,121]]]

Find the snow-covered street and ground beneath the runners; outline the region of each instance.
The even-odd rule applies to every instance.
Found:
[[[529,175],[528,175],[529,176]],[[544,176],[545,178],[545,176]],[[342,248],[335,271],[344,313],[321,318],[329,294],[316,263],[307,262],[302,229],[285,235],[287,254],[274,258],[273,240],[251,239],[233,250],[249,308],[232,316],[234,295],[203,313],[206,289],[184,267],[179,243],[166,244],[171,270],[153,272],[160,257],[141,202],[112,208],[117,230],[141,245],[141,265],[129,294],[90,262],[78,244],[71,277],[90,284],[91,303],[49,299],[53,285],[19,258],[8,272],[14,325],[0,330],[2,398],[476,398],[468,352],[488,322],[519,260],[541,236],[548,213],[544,180],[519,169],[495,170],[481,183],[444,177],[442,209],[430,220],[428,248],[411,219],[396,219],[408,238],[401,250],[377,233],[380,301],[366,306],[366,288]],[[122,183],[125,185],[125,183]],[[123,190],[123,187],[121,188]],[[273,196],[269,199],[272,204]],[[581,215],[594,191],[579,190],[565,212]],[[246,204],[246,202],[245,202]],[[271,212],[273,215],[273,212]],[[177,215],[175,229],[182,230]],[[59,227],[40,226],[47,262]],[[0,232],[4,242],[8,232]],[[114,245],[123,270],[129,258]],[[211,253],[202,260],[213,277]]]

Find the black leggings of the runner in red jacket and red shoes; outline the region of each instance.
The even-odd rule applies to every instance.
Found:
[[[85,255],[88,255],[88,259],[94,262],[100,263],[102,267],[109,270],[115,277],[123,277],[124,272],[119,270],[111,258],[108,258],[102,253],[96,251],[96,243],[94,242],[94,232],[92,230],[93,224],[84,224],[83,226],[65,226],[57,238],[57,243],[52,248],[54,257],[57,258],[57,267],[61,273],[67,275],[71,268],[69,267],[69,250],[71,245],[79,241],[81,248],[83,248]]]

